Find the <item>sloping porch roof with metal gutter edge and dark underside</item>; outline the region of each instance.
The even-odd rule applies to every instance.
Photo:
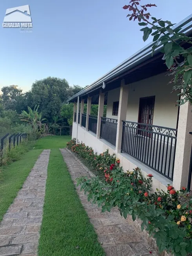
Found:
[[[186,34],[191,34],[191,32],[192,32],[192,15],[188,16],[187,18],[185,18],[184,20],[179,22],[177,25],[174,26],[174,28],[181,28],[180,32],[186,33]],[[146,69],[148,71],[150,69],[148,77],[157,74],[157,72],[158,72],[157,68],[152,69],[152,66],[149,65],[150,62],[152,62],[152,61],[156,62],[156,64],[158,65],[158,69],[160,67],[161,72],[166,71],[166,66],[165,66],[164,62],[161,60],[162,53],[160,51],[162,49],[162,44],[159,44],[159,47],[156,49],[156,51],[154,52],[154,55],[152,57],[152,46],[153,45],[154,45],[154,42],[151,42],[150,44],[146,45],[145,47],[140,49],[138,52],[134,53],[132,56],[127,58],[125,61],[121,62],[119,65],[114,67],[114,69],[111,69],[108,73],[101,76],[94,83],[92,83],[91,85],[88,85],[82,91],[80,91],[79,93],[77,93],[74,96],[72,96],[71,98],[69,98],[68,101],[76,102],[78,96],[80,96],[81,98],[85,98],[85,100],[86,100],[88,94],[92,94],[97,99],[97,100],[95,100],[95,102],[92,99],[93,100],[92,103],[97,103],[98,93],[99,93],[100,88],[103,86],[103,83],[105,83],[105,85],[107,87],[105,90],[103,90],[103,92],[107,92],[113,88],[119,87],[120,79],[126,78],[126,76],[128,74],[129,74],[129,83],[136,82],[135,79],[137,79],[137,81],[141,80],[142,78],[139,79],[139,76],[137,76],[137,78],[136,78],[135,72],[134,72],[134,71],[138,71],[139,69],[140,69],[139,73],[142,74],[142,71],[144,71],[145,76],[147,74]],[[142,69],[141,69],[141,67],[142,67]],[[133,76],[131,76],[130,74],[131,75],[133,74]],[[147,76],[144,78],[147,78]]]

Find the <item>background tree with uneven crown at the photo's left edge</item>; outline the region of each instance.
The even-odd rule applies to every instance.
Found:
[[[22,95],[22,90],[18,89],[18,85],[4,86],[2,89],[2,101],[5,109],[15,110],[18,97]]]

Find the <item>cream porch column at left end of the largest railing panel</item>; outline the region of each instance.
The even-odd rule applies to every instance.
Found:
[[[125,80],[121,80],[120,89],[120,101],[118,110],[118,124],[117,124],[117,135],[116,135],[116,154],[121,152],[121,141],[123,134],[123,122],[126,120],[127,115],[127,103],[128,103],[129,87],[125,85]]]

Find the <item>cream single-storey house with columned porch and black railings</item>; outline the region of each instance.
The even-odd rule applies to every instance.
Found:
[[[192,15],[176,27],[191,35]],[[162,46],[152,56],[152,45],[69,98],[74,102],[72,138],[97,153],[109,149],[120,158],[124,171],[140,167],[144,176],[153,174],[158,189],[166,190],[167,184],[175,189],[190,187],[192,107],[176,106],[178,92],[168,84],[171,77],[162,60]],[[90,114],[91,104],[99,105],[98,116]]]

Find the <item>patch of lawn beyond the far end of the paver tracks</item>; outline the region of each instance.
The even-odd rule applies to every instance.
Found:
[[[46,136],[36,142],[35,149],[61,149],[69,140],[71,136]]]

